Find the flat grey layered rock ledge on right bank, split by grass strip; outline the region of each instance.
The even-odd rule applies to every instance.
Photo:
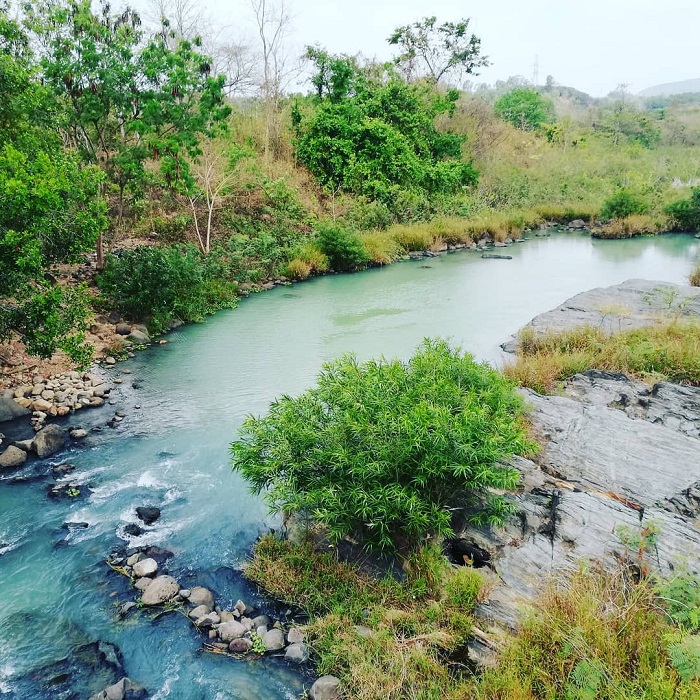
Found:
[[[605,305],[621,301],[627,311],[612,320]],[[700,289],[632,280],[579,294],[530,325],[539,333],[599,323],[614,332],[662,313],[700,317]],[[581,562],[609,570],[621,561],[634,564],[630,540],[644,528],[658,533],[645,566],[662,576],[679,566],[700,574],[700,388],[648,386],[591,370],[567,381],[562,395],[523,395],[545,446],[536,461],[513,460],[522,474],[518,517],[500,529],[461,533],[468,545],[490,553],[497,572],[477,611],[486,637],[471,645],[474,660],[483,663],[543,581]]]

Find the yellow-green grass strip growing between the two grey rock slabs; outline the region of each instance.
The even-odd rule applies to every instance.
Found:
[[[606,335],[581,327],[535,336],[520,333],[517,360],[504,374],[539,393],[587,369],[602,369],[648,379],[700,385],[700,323],[674,320],[657,326]]]

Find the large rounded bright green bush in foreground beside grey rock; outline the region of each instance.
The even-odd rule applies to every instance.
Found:
[[[249,417],[233,469],[273,512],[306,512],[333,540],[408,550],[449,535],[453,514],[501,522],[511,508],[505,465],[534,449],[513,385],[440,340],[408,362],[353,356],[324,366],[317,385]]]

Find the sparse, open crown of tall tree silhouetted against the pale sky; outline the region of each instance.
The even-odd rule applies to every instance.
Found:
[[[398,27],[387,41],[400,49],[394,62],[408,80],[459,81],[489,65],[481,55],[481,39],[469,33],[469,19],[438,24],[437,17],[424,17]]]

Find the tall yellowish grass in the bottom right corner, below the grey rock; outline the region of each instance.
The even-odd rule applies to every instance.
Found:
[[[552,583],[534,614],[474,683],[474,700],[691,700],[700,681],[682,680],[667,650],[676,627],[648,580],[580,571]]]

